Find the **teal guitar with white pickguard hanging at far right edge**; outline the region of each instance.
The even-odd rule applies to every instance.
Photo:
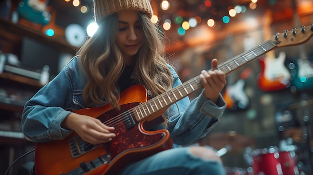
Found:
[[[295,26],[300,28],[300,19],[296,10],[296,0],[291,0],[293,8],[293,17]],[[294,31],[294,29],[292,29]],[[313,62],[308,59],[304,45],[298,46],[299,59],[296,62],[289,63],[288,67],[291,73],[291,92],[305,91],[313,87]]]

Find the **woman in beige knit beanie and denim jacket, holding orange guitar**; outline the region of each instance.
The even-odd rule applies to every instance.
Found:
[[[225,74],[182,85],[152,14],[149,0],[94,0],[98,30],[24,107],[36,175],[225,174],[213,150],[182,147],[219,121]]]

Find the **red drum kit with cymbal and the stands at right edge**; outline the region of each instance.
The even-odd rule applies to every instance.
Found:
[[[226,175],[313,175],[313,142],[310,140],[309,112],[306,110],[309,105],[313,105],[313,100],[289,105],[289,110],[303,108],[303,121],[299,127],[286,127],[277,122],[278,132],[283,133],[278,147],[252,150],[255,139],[234,131],[212,133],[201,142],[218,149],[216,153],[220,157],[227,152],[244,151],[243,159],[247,167],[225,167]]]

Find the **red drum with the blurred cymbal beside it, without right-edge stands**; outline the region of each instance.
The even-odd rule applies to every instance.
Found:
[[[292,145],[292,139],[282,140],[280,146],[252,150],[255,139],[236,134],[214,133],[208,137],[213,148],[219,148],[216,153],[222,157],[227,152],[240,152],[244,150],[244,160],[247,168],[225,167],[226,175],[311,175],[307,174],[306,168],[299,156],[299,148]],[[224,147],[220,148],[222,145]]]

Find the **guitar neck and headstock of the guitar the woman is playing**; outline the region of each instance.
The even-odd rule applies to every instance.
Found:
[[[313,35],[313,24],[307,27],[301,27],[292,31],[284,31],[276,33],[269,40],[259,44],[252,49],[249,49],[227,61],[217,65],[210,70],[219,70],[226,75],[236,70],[237,68],[247,64],[248,62],[258,58],[276,47],[285,47],[299,45],[306,42]],[[172,104],[183,99],[189,94],[203,88],[200,81],[200,76],[196,76],[181,85],[174,87],[144,103],[141,103],[132,108],[128,113],[137,121],[141,121],[147,117],[152,119],[158,117]]]

